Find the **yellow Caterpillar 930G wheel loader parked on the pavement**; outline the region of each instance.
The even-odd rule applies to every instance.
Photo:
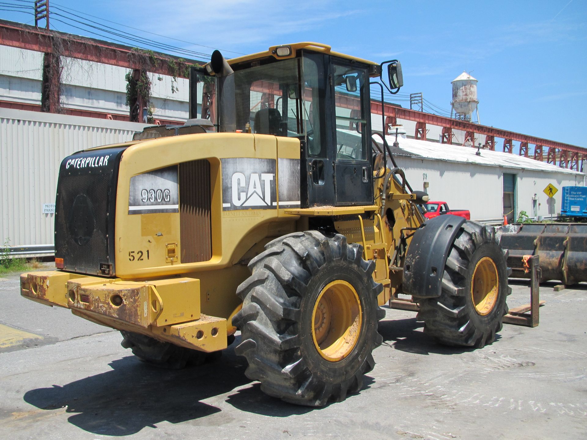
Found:
[[[167,367],[203,361],[238,329],[247,377],[302,405],[362,388],[380,306],[400,292],[442,343],[491,343],[507,311],[505,252],[491,226],[424,223],[426,195],[372,138],[383,66],[399,90],[396,60],[318,43],[230,62],[215,52],[192,69],[185,126],[63,160],[58,270],[24,273],[22,295],[120,330]]]

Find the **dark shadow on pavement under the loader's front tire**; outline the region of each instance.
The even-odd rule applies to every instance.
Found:
[[[450,347],[437,343],[434,338],[424,334],[424,323],[416,318],[379,321],[379,333],[383,344],[396,350],[416,354],[460,354],[473,351],[471,347]],[[497,334],[496,340],[500,339]]]

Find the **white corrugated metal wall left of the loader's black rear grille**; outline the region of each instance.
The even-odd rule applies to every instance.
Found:
[[[0,108],[0,240],[53,243],[58,168],[75,151],[126,142],[145,124]]]

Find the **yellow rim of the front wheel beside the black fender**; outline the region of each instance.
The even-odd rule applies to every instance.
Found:
[[[481,316],[490,313],[497,302],[500,282],[497,267],[489,257],[483,257],[475,265],[471,283],[471,299],[475,312]]]

